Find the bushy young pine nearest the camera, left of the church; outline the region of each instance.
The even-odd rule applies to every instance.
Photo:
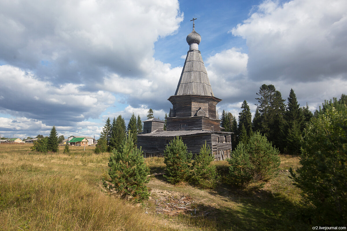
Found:
[[[146,183],[149,182],[149,168],[144,163],[141,148],[137,149],[132,135],[129,135],[118,150],[113,149],[108,166],[111,178],[110,189],[115,188],[121,196],[131,196],[135,201],[148,198]]]

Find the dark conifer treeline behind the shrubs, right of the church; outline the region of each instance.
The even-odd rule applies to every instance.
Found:
[[[319,113],[318,110],[313,114],[307,103],[306,106],[300,107],[293,89],[289,92],[287,104],[281,92],[271,84],[263,84],[256,95],[258,103],[253,121],[246,100],[242,103],[238,122],[230,112],[222,112],[221,127],[225,128],[224,131],[234,133],[232,149],[234,150],[240,141],[247,143],[249,137],[259,131],[280,152],[300,154],[304,129],[311,118]],[[341,100],[347,102],[347,96],[342,94],[339,101]]]

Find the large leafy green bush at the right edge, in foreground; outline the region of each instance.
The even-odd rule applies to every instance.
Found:
[[[290,169],[307,204],[315,207],[316,222],[346,225],[347,106],[334,99],[308,124],[300,156],[301,167]]]

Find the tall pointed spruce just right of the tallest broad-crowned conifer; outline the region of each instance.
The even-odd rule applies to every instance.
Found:
[[[302,109],[296,100],[294,90],[290,89],[285,112],[283,136],[285,137],[286,150],[289,154],[300,154],[303,124],[304,116]]]

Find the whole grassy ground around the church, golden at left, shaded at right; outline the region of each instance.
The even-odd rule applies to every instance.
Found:
[[[219,184],[201,190],[188,184],[170,185],[151,177],[151,198],[134,205],[106,192],[108,153],[94,147],[71,147],[70,154],[37,153],[31,144],[0,145],[0,230],[307,230],[302,220],[299,190],[286,171],[298,158],[281,156],[281,171],[265,185],[246,189]],[[151,173],[162,172],[162,158],[147,158]],[[220,173],[227,162],[214,162]],[[158,214],[156,201],[186,197],[194,214]]]

